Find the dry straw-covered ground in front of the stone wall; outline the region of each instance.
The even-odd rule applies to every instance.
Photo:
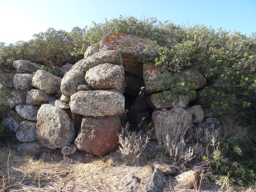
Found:
[[[76,191],[122,191],[120,180],[127,173],[141,179],[139,191],[152,175],[151,162],[144,165],[129,166],[126,163],[115,162],[112,159],[99,157],[87,158],[81,163],[72,158],[63,157],[60,150],[48,153],[43,159],[39,157],[20,156],[17,147],[20,145],[15,138],[9,142],[0,141],[0,191],[41,191],[41,192],[76,192]],[[77,152],[77,157],[83,159],[83,153]],[[164,191],[210,192],[210,191],[246,191],[253,189],[242,187],[232,188],[216,186],[199,176],[194,190],[185,190],[177,185],[174,176],[166,176]]]

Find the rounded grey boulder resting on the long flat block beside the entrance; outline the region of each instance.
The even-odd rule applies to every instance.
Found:
[[[89,69],[85,74],[87,84],[94,90],[116,90],[124,93],[125,71],[121,65],[100,64]]]

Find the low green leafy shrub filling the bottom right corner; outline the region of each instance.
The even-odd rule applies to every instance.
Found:
[[[256,147],[241,139],[220,142],[220,149],[215,149],[210,158],[203,157],[205,162],[211,162],[213,179],[222,185],[225,176],[229,175],[227,185],[239,184],[254,186],[256,178]]]

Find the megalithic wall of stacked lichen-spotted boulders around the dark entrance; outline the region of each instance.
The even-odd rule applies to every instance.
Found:
[[[199,130],[204,120],[202,107],[186,107],[196,100],[196,90],[203,88],[207,81],[198,70],[187,69],[179,74],[180,81],[189,77],[193,85],[189,89],[195,90],[194,94],[188,91],[185,95],[177,95],[171,90],[161,93],[163,89],[157,89],[163,83],[159,76],[171,77],[172,74],[152,63],[138,61],[142,56],[152,55],[157,46],[147,38],[111,33],[100,41],[98,47],[88,47],[85,58],[72,68],[70,64],[63,66],[62,71],[70,69],[63,78],[40,70],[39,64],[14,61],[14,67],[22,74],[6,74],[8,82],[3,82],[2,86],[12,87],[9,102],[16,110],[7,113],[4,121],[10,130],[18,130],[19,141],[38,140],[51,149],[66,149],[74,142],[79,150],[105,156],[118,148],[117,133],[120,115],[125,113],[125,93],[137,96],[127,106],[134,120],[151,119],[153,110],[153,114],[157,114],[157,111],[182,107],[186,113],[192,114]],[[144,51],[146,47],[147,51]],[[166,98],[169,98],[168,102]],[[155,129],[160,129],[158,125],[161,123],[169,123],[168,118],[162,118],[159,123],[159,118],[153,116]],[[63,151],[68,155],[69,150]]]

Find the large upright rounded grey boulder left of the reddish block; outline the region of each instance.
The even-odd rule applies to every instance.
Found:
[[[50,149],[62,148],[75,139],[74,123],[64,109],[44,104],[37,116],[37,139]]]

